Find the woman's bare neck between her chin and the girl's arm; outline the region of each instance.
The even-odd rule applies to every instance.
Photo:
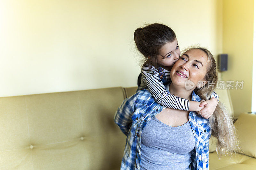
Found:
[[[186,90],[185,88],[181,88],[180,86],[175,86],[173,83],[169,86],[170,94],[181,97],[183,99],[191,100],[191,92],[192,90]]]

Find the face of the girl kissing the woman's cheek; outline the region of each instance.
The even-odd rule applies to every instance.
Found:
[[[159,50],[158,63],[165,67],[173,66],[180,57],[180,48],[175,38],[173,42],[167,42]]]

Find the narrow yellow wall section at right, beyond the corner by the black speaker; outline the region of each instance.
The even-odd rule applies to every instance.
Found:
[[[251,112],[253,0],[223,1],[223,53],[228,54],[228,71],[223,80],[242,81],[242,90],[230,90],[235,115]]]

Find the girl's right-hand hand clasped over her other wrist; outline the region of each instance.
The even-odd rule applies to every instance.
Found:
[[[203,101],[199,106],[204,106],[204,108],[196,113],[208,119],[213,114],[217,104],[218,100],[212,97],[210,100]]]

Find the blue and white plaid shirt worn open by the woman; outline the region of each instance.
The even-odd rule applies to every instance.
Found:
[[[165,85],[169,92],[169,85]],[[201,98],[192,92],[192,101],[200,101]],[[140,90],[133,96],[126,98],[117,109],[114,121],[127,136],[121,170],[140,170],[140,139],[141,132],[155,115],[164,108],[158,104],[149,90]],[[195,136],[195,148],[191,151],[191,169],[209,169],[209,138],[211,126],[209,120],[204,119],[196,112],[190,111],[189,122]]]

